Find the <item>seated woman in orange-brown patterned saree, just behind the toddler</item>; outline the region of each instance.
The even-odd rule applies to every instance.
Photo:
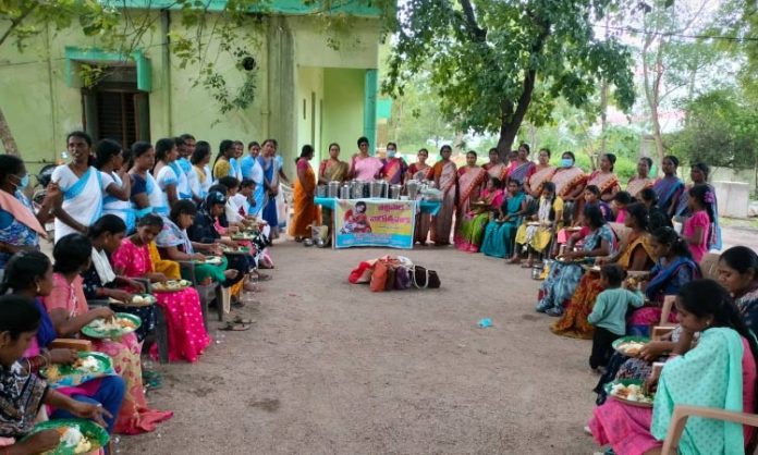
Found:
[[[625,271],[649,270],[653,263],[653,250],[647,223],[645,206],[629,206],[628,216],[624,220],[624,225],[631,230],[628,237],[620,245],[618,254],[598,258],[596,263],[616,263]],[[558,335],[591,339],[594,327],[587,321],[587,317],[592,312],[595,300],[602,291],[600,274],[595,271],[585,273],[571,297],[565,315],[550,330]]]

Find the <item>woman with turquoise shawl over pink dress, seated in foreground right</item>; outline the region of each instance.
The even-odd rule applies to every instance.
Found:
[[[589,429],[598,444],[619,454],[660,454],[678,404],[748,414],[756,409],[758,345],[726,291],[711,280],[687,283],[677,293],[676,308],[683,355],[667,361],[660,377],[647,381],[657,389],[652,409],[615,399],[596,407]],[[692,347],[696,333],[700,336]],[[755,435],[737,423],[693,418],[677,453],[744,453],[745,446],[753,453]]]

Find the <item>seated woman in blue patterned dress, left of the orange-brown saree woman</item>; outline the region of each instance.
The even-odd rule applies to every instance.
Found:
[[[582,213],[583,224],[589,228],[589,234],[585,236],[582,250],[567,251],[563,254],[561,261],[555,261],[550,268],[548,278],[542,282],[539,290],[539,303],[536,310],[546,312],[550,316],[559,317],[563,315],[565,303],[571,299],[572,294],[582,280],[584,269],[582,263],[587,259],[600,256],[609,256],[615,253],[615,236],[611,228],[606,223],[600,208],[587,206]]]

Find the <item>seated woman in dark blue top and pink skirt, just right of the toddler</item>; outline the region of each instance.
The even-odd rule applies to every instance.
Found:
[[[660,322],[663,298],[676,295],[682,286],[700,278],[700,267],[693,261],[687,243],[673,229],[660,228],[651,239],[658,261],[648,276],[639,279],[650,306],[636,310],[629,320],[631,334],[641,336]],[[669,315],[669,321],[676,321],[675,311]]]

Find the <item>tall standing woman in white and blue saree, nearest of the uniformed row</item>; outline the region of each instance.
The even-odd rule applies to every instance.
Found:
[[[89,135],[75,131],[65,140],[72,161],[56,168],[51,177],[53,187],[62,193],[53,208],[56,242],[68,234],[87,232],[100,218],[102,196],[108,187],[100,172],[89,165],[93,146]]]

